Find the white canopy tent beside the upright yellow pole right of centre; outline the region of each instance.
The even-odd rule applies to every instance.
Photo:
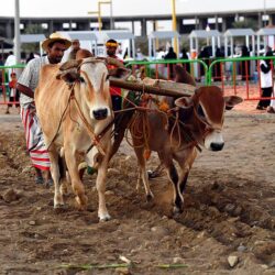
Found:
[[[148,35],[148,57],[152,59],[153,56],[156,56],[156,40],[170,40],[173,45],[174,38],[177,40],[177,51],[179,53],[179,34],[174,31],[155,31]],[[152,46],[153,46],[153,56],[152,56]]]

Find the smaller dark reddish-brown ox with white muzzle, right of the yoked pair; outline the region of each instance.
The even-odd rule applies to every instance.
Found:
[[[166,98],[166,100],[173,99]],[[147,112],[145,120],[141,113],[134,114],[135,123],[140,127],[132,127],[130,131],[140,167],[138,186],[142,180],[147,199],[151,199],[153,194],[148,186],[144,150],[157,152],[174,186],[174,212],[180,212],[188,174],[197,156],[196,146],[201,145],[210,151],[222,150],[224,141],[221,131],[224,109],[233,108],[240,101],[238,97],[223,97],[220,88],[209,86],[197,89],[190,98],[178,98],[175,101],[177,111],[169,117],[168,121],[161,112]],[[152,105],[152,108],[157,109],[154,101]],[[148,129],[147,133],[143,132],[144,121]],[[179,174],[173,160],[179,165]]]

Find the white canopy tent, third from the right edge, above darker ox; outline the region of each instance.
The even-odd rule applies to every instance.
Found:
[[[202,40],[209,40],[211,38],[211,46],[212,46],[212,55],[215,56],[216,54],[216,41],[217,41],[217,46],[221,46],[221,33],[217,30],[196,30],[191,31],[189,34],[189,42],[190,42],[190,53],[196,51],[196,54],[198,54],[199,51],[199,38]],[[195,42],[195,43],[194,43]],[[195,47],[194,47],[195,44]]]

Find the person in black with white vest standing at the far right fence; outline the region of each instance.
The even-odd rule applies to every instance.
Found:
[[[273,56],[273,52],[268,51],[265,56]],[[260,62],[260,76],[262,98],[270,98],[273,92],[273,79],[272,79],[272,59],[264,59]],[[271,105],[270,99],[261,99],[257,103],[257,110],[264,110]]]

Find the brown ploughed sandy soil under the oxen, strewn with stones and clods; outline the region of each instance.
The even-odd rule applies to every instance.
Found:
[[[275,274],[274,114],[227,113],[224,150],[199,154],[176,218],[165,176],[151,180],[153,202],[135,190],[136,162],[123,144],[108,175],[112,220],[100,223],[95,176],[85,176],[87,211],[76,210],[73,195],[55,211],[53,190],[33,182],[18,116],[0,116],[0,274]],[[148,166],[156,165],[152,157]],[[61,266],[122,263],[120,255],[134,265]],[[173,263],[186,267],[157,267]]]

